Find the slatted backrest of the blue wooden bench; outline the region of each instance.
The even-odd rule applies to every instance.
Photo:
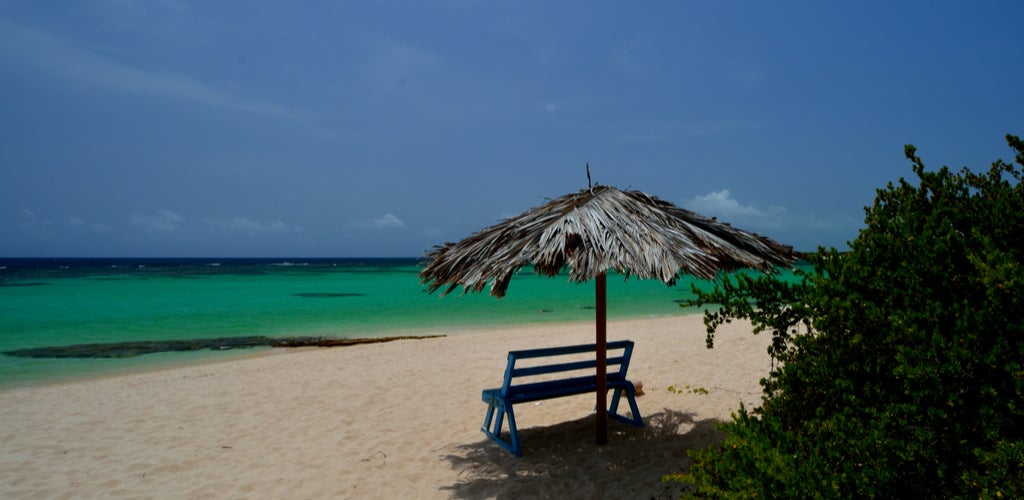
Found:
[[[630,367],[630,358],[633,356],[633,341],[615,340],[607,342],[605,345],[607,346],[607,361],[605,365],[608,367],[608,375],[611,376],[612,373],[617,373],[618,377],[626,379],[626,372]],[[509,387],[513,385],[512,382],[516,378],[561,372],[579,372],[582,370],[594,370],[594,373],[596,373],[597,360],[594,357],[589,359],[578,359],[580,356],[573,357],[573,355],[593,353],[596,351],[597,344],[512,350],[509,352],[508,366],[505,368],[505,381],[502,383],[502,393],[508,394]],[[541,361],[540,359],[550,360]],[[534,360],[536,363],[527,361],[524,363],[526,366],[517,366],[519,362],[526,360]],[[617,370],[613,370],[613,367],[617,367]]]

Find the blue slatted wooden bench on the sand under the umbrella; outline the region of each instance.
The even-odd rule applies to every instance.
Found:
[[[505,368],[505,381],[502,386],[483,390],[483,402],[487,404],[487,414],[483,419],[481,430],[515,456],[521,457],[522,447],[519,443],[519,430],[516,427],[512,406],[517,403],[595,392],[597,390],[597,360],[594,357],[568,360],[571,360],[572,355],[594,355],[596,350],[597,344],[583,344],[509,352],[508,366]],[[617,353],[620,350],[622,352]],[[636,387],[633,386],[633,382],[626,379],[626,371],[630,367],[630,358],[633,356],[633,341],[608,342],[607,351],[607,388],[613,390],[610,405],[608,405],[608,416],[643,427],[643,419],[637,408]],[[552,361],[558,361],[558,363],[551,363]],[[614,367],[617,369],[613,369]],[[550,374],[566,373],[567,376],[558,379],[544,377]],[[618,414],[618,400],[624,392],[630,404],[630,410],[633,412],[633,418]],[[497,420],[495,419],[496,412]],[[510,439],[508,441],[502,437],[502,425],[505,418],[508,418],[509,423]]]

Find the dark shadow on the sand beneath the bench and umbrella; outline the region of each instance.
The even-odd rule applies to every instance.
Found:
[[[481,439],[445,458],[459,471],[454,498],[679,498],[686,487],[663,483],[689,467],[687,451],[721,443],[718,420],[664,410],[638,428],[608,422],[608,444],[594,444],[593,415],[519,430],[522,458]],[[481,433],[482,436],[482,433]]]

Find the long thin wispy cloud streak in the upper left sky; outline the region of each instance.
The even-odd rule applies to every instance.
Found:
[[[0,20],[0,56],[51,75],[108,89],[161,95],[230,110],[302,120],[296,110],[218,90],[188,75],[135,68],[47,33]]]

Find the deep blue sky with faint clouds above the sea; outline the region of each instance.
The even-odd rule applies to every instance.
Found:
[[[593,180],[798,250],[1024,135],[1024,2],[0,0],[0,257],[418,257]]]

